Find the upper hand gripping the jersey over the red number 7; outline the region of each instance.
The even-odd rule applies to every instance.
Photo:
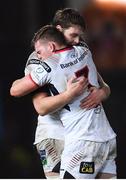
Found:
[[[88,86],[88,80],[84,76],[79,78],[72,77],[67,82],[67,93],[76,97],[84,93]]]

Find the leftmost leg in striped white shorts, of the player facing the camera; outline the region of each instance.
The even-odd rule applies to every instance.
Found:
[[[47,178],[58,178],[64,142],[45,139],[36,145]]]

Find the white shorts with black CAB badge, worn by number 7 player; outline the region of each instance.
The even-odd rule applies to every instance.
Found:
[[[116,139],[107,142],[78,140],[64,147],[60,178],[66,172],[76,179],[94,179],[98,173],[116,175]]]

